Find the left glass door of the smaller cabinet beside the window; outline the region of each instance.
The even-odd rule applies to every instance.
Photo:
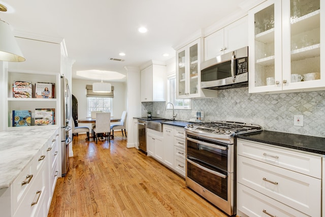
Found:
[[[185,72],[185,49],[178,52],[177,56],[177,68],[178,68],[178,96],[185,96],[186,87],[186,72]]]

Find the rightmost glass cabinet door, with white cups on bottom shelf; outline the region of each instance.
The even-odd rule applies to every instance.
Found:
[[[283,89],[316,87],[320,84],[320,0],[282,2]],[[287,55],[285,55],[287,54]],[[319,84],[317,84],[319,83]]]

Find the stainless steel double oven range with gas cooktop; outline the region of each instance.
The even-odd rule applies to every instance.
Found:
[[[190,123],[186,132],[186,185],[229,215],[236,214],[234,135],[258,125],[215,121]]]

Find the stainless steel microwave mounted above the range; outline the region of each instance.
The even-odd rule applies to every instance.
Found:
[[[204,61],[201,88],[229,89],[248,86],[248,47]]]

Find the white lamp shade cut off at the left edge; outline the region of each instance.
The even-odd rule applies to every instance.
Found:
[[[25,61],[9,24],[3,20],[0,20],[0,60],[10,62]]]

